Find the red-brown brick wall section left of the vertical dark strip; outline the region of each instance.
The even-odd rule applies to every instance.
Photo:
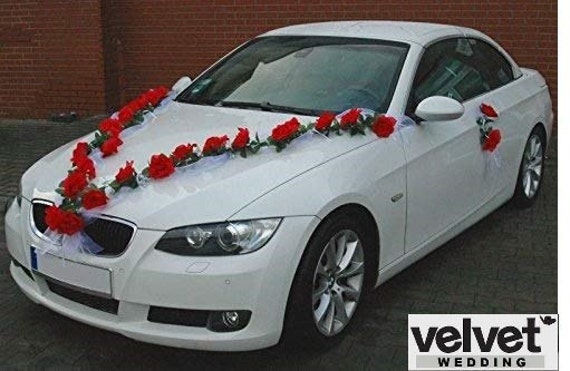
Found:
[[[98,1],[0,1],[0,117],[100,113]]]

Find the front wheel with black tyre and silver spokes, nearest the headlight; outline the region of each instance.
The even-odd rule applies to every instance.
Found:
[[[376,239],[363,219],[343,211],[313,234],[289,294],[282,336],[287,346],[329,348],[347,333],[374,280]]]

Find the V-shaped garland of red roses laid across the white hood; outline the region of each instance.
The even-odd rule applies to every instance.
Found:
[[[81,209],[89,210],[104,206],[108,203],[109,196],[119,192],[123,187],[137,188],[149,180],[167,178],[176,168],[191,165],[205,157],[230,152],[247,158],[248,154],[256,154],[262,147],[268,146],[275,147],[277,152],[281,152],[293,140],[312,130],[325,136],[332,133],[366,135],[366,130],[370,130],[380,138],[388,138],[396,127],[394,117],[364,116],[358,108],[349,110],[340,119],[337,119],[332,112],[325,112],[315,122],[306,125],[293,117],[274,127],[265,141],[260,140],[257,134],[252,139],[249,129],[240,127],[230,145],[227,135],[206,139],[200,152],[196,150],[198,147],[196,144],[180,144],[170,155],[164,153],[152,155],[148,166],[141,170],[140,174],[135,170],[134,162],[127,161],[109,184],[97,187],[90,183],[96,177],[96,169],[89,155],[96,149],[101,151],[103,157],[117,153],[119,146],[123,144],[120,139],[121,131],[141,124],[144,114],[154,110],[167,94],[165,88],[149,90],[111,118],[102,121],[99,130],[95,132],[95,138],[90,143],[77,144],[71,157],[72,168],[56,189],[56,192],[63,197],[63,201],[57,206],[52,205],[46,209],[46,224],[52,231],[70,236],[80,232],[85,226]]]

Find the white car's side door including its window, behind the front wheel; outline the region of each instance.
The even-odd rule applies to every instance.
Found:
[[[462,102],[456,120],[423,121],[407,131],[406,252],[436,238],[493,194],[498,175],[481,148],[479,106],[496,83],[482,68],[474,43],[452,38],[429,46],[414,78],[406,112],[430,96]],[[512,77],[512,71],[511,71]]]

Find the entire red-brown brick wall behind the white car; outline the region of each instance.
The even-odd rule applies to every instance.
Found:
[[[264,31],[325,20],[393,19],[477,28],[557,91],[553,0],[2,0],[0,116],[117,108],[195,77]]]

